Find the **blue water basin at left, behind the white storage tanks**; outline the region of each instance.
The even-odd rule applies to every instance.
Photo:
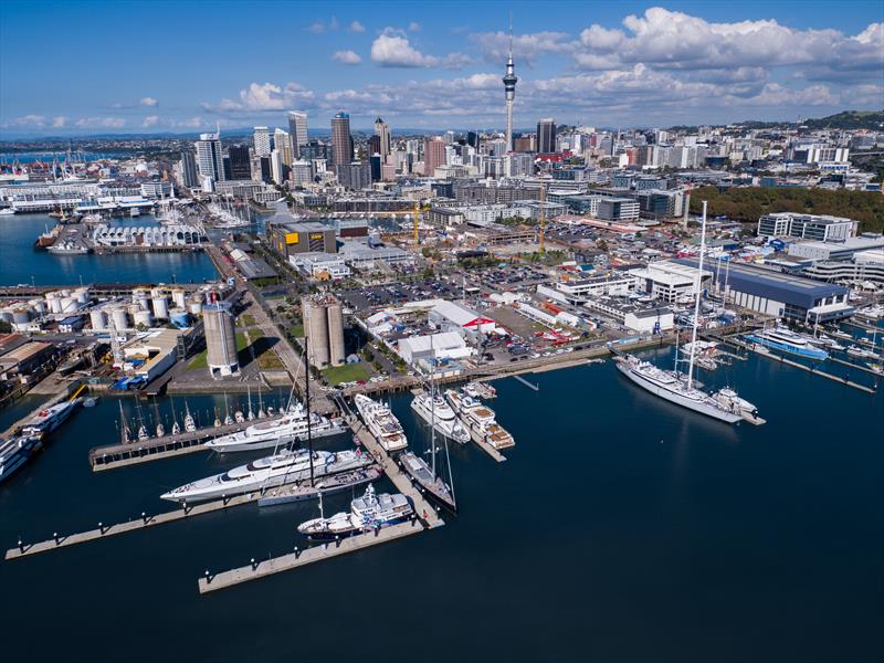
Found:
[[[150,225],[154,217],[115,221]],[[0,218],[0,284],[78,285],[87,283],[200,283],[218,273],[204,253],[151,253],[120,255],[51,255],[34,251],[34,240],[55,220],[45,214]],[[13,257],[14,256],[14,257]]]

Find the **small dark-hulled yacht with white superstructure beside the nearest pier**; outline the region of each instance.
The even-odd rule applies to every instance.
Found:
[[[322,502],[320,502],[322,512]],[[350,502],[350,513],[341,512],[330,518],[322,515],[298,525],[297,530],[311,540],[334,540],[404,523],[414,513],[408,497],[400,493],[375,494],[368,484],[365,495]]]

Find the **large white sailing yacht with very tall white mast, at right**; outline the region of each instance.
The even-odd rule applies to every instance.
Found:
[[[642,361],[632,355],[614,358],[617,368],[635,385],[670,402],[682,406],[719,421],[736,423],[743,419],[758,419],[756,407],[740,398],[733,389],[720,389],[714,393],[698,389],[694,385],[694,364],[696,354],[697,325],[699,320],[701,281],[703,278],[703,256],[706,250],[706,202],[703,202],[703,227],[701,232],[699,264],[695,287],[692,349],[688,359],[687,379],[677,371],[678,352],[675,352],[676,370],[663,370],[650,361]]]

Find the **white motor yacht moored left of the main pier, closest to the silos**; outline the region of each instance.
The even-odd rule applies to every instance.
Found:
[[[337,421],[311,412],[311,435],[325,438],[336,435],[344,429]],[[282,419],[253,423],[243,431],[221,435],[206,443],[206,446],[221,453],[252,451],[286,446],[307,439],[307,412],[298,403],[293,412]]]

